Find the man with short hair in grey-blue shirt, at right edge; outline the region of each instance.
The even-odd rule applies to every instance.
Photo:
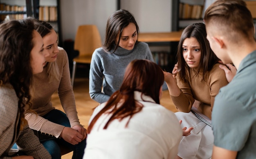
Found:
[[[212,111],[212,159],[256,158],[256,41],[250,11],[242,0],[217,0],[204,14],[207,39],[236,76],[220,89]]]

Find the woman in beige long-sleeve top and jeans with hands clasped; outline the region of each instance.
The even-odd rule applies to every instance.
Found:
[[[34,21],[50,56],[46,58],[47,64],[43,72],[34,75],[31,110],[37,114],[26,112],[25,118],[31,129],[55,136],[53,140],[42,142],[53,159],[61,158],[58,144],[73,150],[72,159],[82,159],[87,134],[76,111],[67,53],[58,47],[58,36],[50,24],[36,19]],[[52,105],[51,97],[56,91],[65,113]]]

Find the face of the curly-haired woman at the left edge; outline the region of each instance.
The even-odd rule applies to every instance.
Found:
[[[45,57],[49,56],[49,53],[44,52],[44,43],[41,35],[34,30],[33,31],[33,39],[34,47],[30,52],[31,57],[31,67],[33,74],[38,74],[43,71],[43,67],[45,66]]]

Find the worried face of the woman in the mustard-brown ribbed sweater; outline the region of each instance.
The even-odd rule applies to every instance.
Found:
[[[183,58],[191,68],[197,68],[201,58],[201,48],[196,38],[185,38],[182,44]]]

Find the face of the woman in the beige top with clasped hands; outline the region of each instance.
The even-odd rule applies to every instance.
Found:
[[[54,62],[58,56],[58,36],[54,29],[43,37],[45,52],[49,54],[45,58],[46,62]]]

